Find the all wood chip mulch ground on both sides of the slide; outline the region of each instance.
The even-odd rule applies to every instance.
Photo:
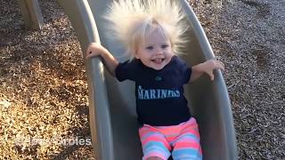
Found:
[[[226,66],[240,159],[285,159],[285,1],[190,3]],[[39,4],[45,26],[26,31],[0,1],[0,159],[94,159],[77,37],[55,0]]]

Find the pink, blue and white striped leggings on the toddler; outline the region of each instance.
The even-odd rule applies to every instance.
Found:
[[[142,142],[142,159],[158,156],[164,160],[171,155],[174,160],[202,159],[199,130],[195,118],[171,126],[143,124],[139,129]]]

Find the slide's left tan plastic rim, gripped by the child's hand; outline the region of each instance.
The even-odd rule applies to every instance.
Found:
[[[87,0],[58,0],[69,16],[80,43],[83,58],[88,44],[100,43],[100,38]],[[89,94],[89,116],[94,154],[98,159],[114,159],[110,126],[110,108],[102,60],[85,61]]]

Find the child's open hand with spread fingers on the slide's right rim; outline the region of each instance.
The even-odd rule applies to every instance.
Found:
[[[204,73],[208,74],[210,79],[214,80],[214,69],[222,69],[224,70],[224,63],[220,60],[207,60],[204,63],[201,63],[201,69]]]

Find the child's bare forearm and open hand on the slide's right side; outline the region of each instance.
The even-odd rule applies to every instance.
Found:
[[[206,73],[210,79],[214,80],[214,69],[222,69],[224,70],[224,63],[219,60],[207,60],[204,63],[200,63],[196,66],[193,66],[191,68],[191,79],[190,82],[195,81],[199,78],[199,76],[202,76],[204,73]]]

